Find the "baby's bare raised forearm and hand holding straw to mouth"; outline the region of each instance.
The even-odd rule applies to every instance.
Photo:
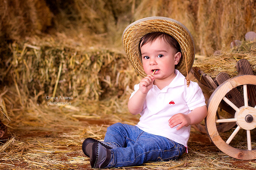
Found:
[[[128,109],[132,115],[139,114],[143,109],[143,104],[148,94],[148,91],[153,86],[155,77],[148,75],[140,80],[139,90],[128,101]]]

